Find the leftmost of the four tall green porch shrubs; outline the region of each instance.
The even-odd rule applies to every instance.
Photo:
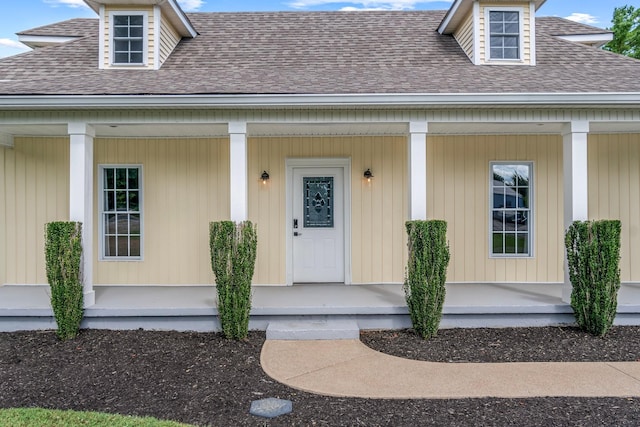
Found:
[[[51,287],[51,307],[57,334],[62,340],[78,335],[83,315],[80,275],[82,224],[50,222],[45,229],[47,280]]]

